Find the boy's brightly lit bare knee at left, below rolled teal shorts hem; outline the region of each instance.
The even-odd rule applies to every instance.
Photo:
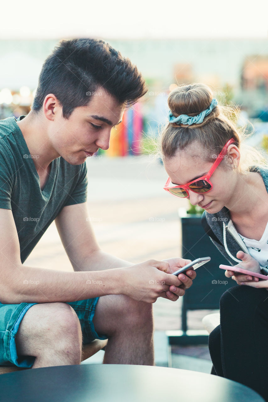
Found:
[[[29,308],[15,341],[19,357],[35,356],[33,368],[81,363],[80,322],[66,303],[41,303]]]

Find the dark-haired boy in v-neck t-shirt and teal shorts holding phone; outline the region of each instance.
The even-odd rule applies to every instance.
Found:
[[[153,365],[152,303],[177,300],[188,260],[133,265],[103,252],[87,210],[87,156],[146,93],[108,43],[62,41],[47,57],[30,113],[0,121],[0,365],[80,364],[82,343],[108,338],[104,363]],[[52,221],[74,272],[23,263]]]

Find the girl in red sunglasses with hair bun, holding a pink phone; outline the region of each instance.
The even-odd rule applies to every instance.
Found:
[[[230,265],[266,275],[266,160],[245,146],[233,109],[220,106],[208,86],[179,86],[168,105],[169,123],[160,141],[169,176],[165,190],[205,209],[211,240]],[[268,400],[268,280],[225,275],[239,286],[221,297],[221,324],[209,336],[212,374],[245,384]]]

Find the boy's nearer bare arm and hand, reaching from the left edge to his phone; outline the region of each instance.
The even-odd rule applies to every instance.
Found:
[[[0,208],[0,228],[0,302],[3,304],[66,302],[107,294],[125,294],[153,303],[170,285],[181,284],[177,277],[163,272],[168,270],[168,263],[153,260],[135,267],[92,272],[26,267],[21,264],[19,238],[10,209]]]

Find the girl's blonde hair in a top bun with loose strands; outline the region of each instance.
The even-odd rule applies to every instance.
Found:
[[[213,94],[205,84],[190,84],[178,86],[170,92],[168,105],[173,116],[185,114],[198,115],[210,106]],[[250,166],[266,166],[264,156],[252,147],[243,144],[248,135],[245,127],[236,127],[239,109],[217,105],[207,115],[202,123],[185,125],[168,123],[161,132],[160,153],[162,158],[172,158],[177,151],[186,149],[192,142],[198,141],[206,150],[204,158],[214,161],[227,141],[232,137],[241,152],[238,171],[245,174]],[[202,148],[200,149],[200,152]]]

